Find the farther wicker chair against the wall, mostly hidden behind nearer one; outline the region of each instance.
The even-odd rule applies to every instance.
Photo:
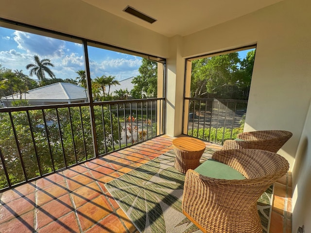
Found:
[[[239,133],[237,136],[238,140],[225,140],[223,150],[258,149],[276,153],[292,135],[293,133],[282,130]]]

